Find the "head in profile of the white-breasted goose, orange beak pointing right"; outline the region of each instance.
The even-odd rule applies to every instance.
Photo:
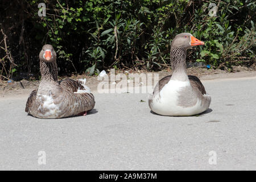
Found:
[[[204,45],[204,42],[195,38],[192,34],[181,33],[175,36],[172,40],[172,45],[174,47],[180,47],[184,49],[191,48],[192,46]]]

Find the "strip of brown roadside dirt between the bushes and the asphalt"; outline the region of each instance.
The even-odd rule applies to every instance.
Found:
[[[213,69],[206,69],[206,68],[188,68],[187,73],[188,75],[195,75],[200,78],[202,81],[207,80],[222,80],[222,79],[229,79],[229,78],[249,78],[249,77],[256,77],[256,71],[250,68],[243,68],[237,67],[234,69],[235,72],[226,72],[220,69],[213,70]],[[124,73],[127,76],[127,80],[135,81],[134,76],[131,76],[130,73],[158,73],[159,80],[164,76],[171,75],[171,70],[161,71],[161,72],[144,72],[144,71],[115,71],[115,75],[118,73]],[[108,73],[108,76],[110,73]],[[154,75],[154,74],[153,74]],[[89,77],[86,75],[79,75],[79,76],[72,76],[72,79],[80,79],[86,78],[86,83],[89,88],[93,92],[97,92],[97,86],[101,82],[98,80],[97,76]],[[152,78],[154,79],[154,78]],[[61,79],[60,79],[61,80]],[[114,84],[113,81],[108,81],[109,84]],[[118,81],[115,81],[118,83]],[[143,82],[140,82],[143,84]],[[153,82],[154,83],[154,82]],[[0,100],[7,99],[7,98],[19,98],[19,97],[28,97],[32,90],[37,89],[40,84],[40,81],[13,81],[11,83],[5,81],[0,81]]]

